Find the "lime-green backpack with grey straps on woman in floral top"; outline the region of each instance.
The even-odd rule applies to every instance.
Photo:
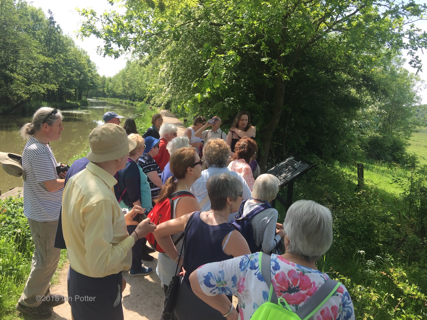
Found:
[[[259,308],[254,312],[251,320],[308,320],[313,314],[318,311],[322,305],[328,301],[328,299],[335,293],[336,289],[341,285],[341,282],[328,279],[318,291],[307,300],[304,305],[299,308],[296,312],[293,312],[289,304],[284,298],[277,299],[275,292],[273,291],[273,285],[271,283],[271,270],[270,270],[270,259],[268,254],[260,252],[260,272],[266,280],[266,284],[270,284],[270,294],[268,301],[260,305]],[[273,293],[274,292],[274,293]],[[285,307],[279,303],[283,301]]]

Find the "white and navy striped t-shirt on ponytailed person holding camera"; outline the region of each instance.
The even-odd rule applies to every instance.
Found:
[[[22,153],[24,181],[24,215],[36,221],[54,221],[61,212],[62,191],[50,192],[44,181],[58,179],[56,160],[50,146],[31,137]]]

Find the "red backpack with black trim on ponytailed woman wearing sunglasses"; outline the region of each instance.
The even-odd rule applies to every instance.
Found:
[[[154,223],[156,226],[164,221],[170,220],[173,217],[172,201],[181,197],[196,198],[191,192],[178,191],[175,193],[175,195],[173,195],[173,198],[167,198],[164,199],[162,202],[155,204],[155,206],[151,209],[147,217],[150,218],[151,222]],[[174,242],[174,244],[176,245],[182,239],[183,236],[184,233],[182,233],[182,235],[178,238],[178,240]],[[146,239],[154,250],[164,253],[164,250],[158,245],[157,240],[155,239],[152,233],[149,233],[146,236]]]

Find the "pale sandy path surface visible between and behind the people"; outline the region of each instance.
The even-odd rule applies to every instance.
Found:
[[[182,122],[169,111],[160,111],[163,116],[163,123],[172,123],[178,128],[178,137],[184,135],[186,127]],[[192,121],[190,121],[193,123]],[[160,318],[163,309],[164,291],[160,288],[160,279],[155,268],[157,266],[158,253],[151,253],[155,258],[151,262],[144,261],[144,265],[153,268],[153,272],[148,276],[129,276],[127,271],[123,271],[123,278],[126,280],[126,289],[123,292],[123,314],[125,319],[132,320],[157,320]],[[62,294],[67,297],[67,273],[68,264],[60,271],[59,282],[51,288],[52,293]],[[53,320],[71,320],[71,308],[66,302],[53,308]]]

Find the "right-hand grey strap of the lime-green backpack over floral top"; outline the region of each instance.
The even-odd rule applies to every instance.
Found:
[[[326,282],[295,312],[301,319],[308,319],[335,293],[341,282],[328,278]]]

